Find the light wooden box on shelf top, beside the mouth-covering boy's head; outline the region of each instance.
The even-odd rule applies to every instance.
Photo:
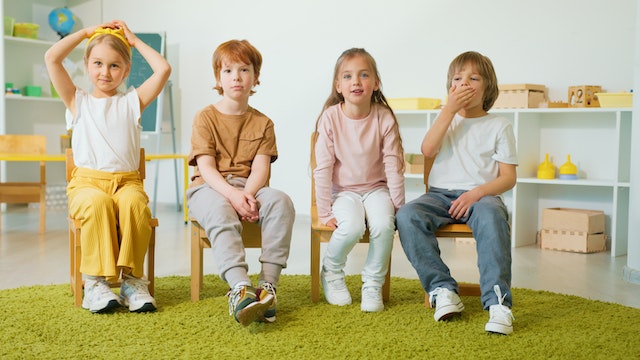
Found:
[[[498,85],[500,94],[493,104],[494,109],[538,108],[546,103],[547,88],[537,84]]]

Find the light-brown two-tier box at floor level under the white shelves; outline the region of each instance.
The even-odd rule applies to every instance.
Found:
[[[598,210],[549,208],[542,210],[540,247],[593,253],[606,250],[604,213]]]

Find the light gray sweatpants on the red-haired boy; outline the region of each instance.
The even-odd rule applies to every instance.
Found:
[[[227,181],[237,188],[244,188],[246,180],[236,177]],[[260,280],[277,286],[280,271],[287,266],[295,209],[287,194],[270,187],[258,190],[255,198],[262,230]],[[240,281],[250,282],[241,237],[242,223],[231,203],[207,184],[190,188],[187,201],[189,216],[200,223],[211,241],[214,261],[222,280],[230,287]]]

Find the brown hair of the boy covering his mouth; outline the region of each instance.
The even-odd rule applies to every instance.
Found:
[[[449,65],[447,74],[447,92],[451,88],[451,82],[455,74],[467,63],[473,64],[484,80],[484,95],[482,97],[482,109],[489,111],[498,98],[498,79],[491,60],[476,51],[467,51],[458,55]]]

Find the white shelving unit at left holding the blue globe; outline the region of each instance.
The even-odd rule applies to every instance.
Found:
[[[3,91],[0,99],[0,133],[43,134],[47,136],[47,152],[60,153],[60,135],[66,133],[62,101],[51,96],[50,82],[44,67],[44,53],[59,36],[50,28],[48,17],[51,10],[67,6],[77,17],[74,30],[85,24],[98,24],[101,20],[101,0],[8,0],[2,2],[3,16],[15,22],[31,22],[40,25],[38,39],[25,39],[3,35],[0,43],[0,81],[13,83],[14,88],[26,85],[42,88],[41,97],[7,95]],[[71,72],[74,81],[81,85],[84,79],[82,49],[74,51],[69,60],[74,65]],[[15,174],[15,175],[14,175]],[[1,170],[2,180],[37,178],[37,169],[29,164],[5,164]],[[64,183],[64,164],[47,165],[47,182]]]

